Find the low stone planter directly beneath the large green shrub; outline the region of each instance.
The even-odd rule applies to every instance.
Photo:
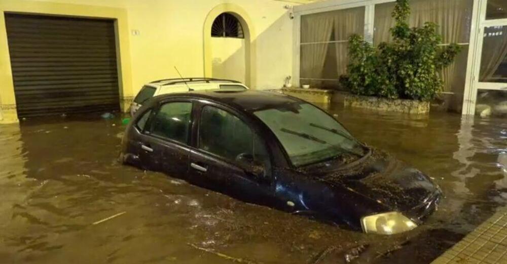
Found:
[[[345,107],[366,108],[376,111],[410,114],[429,113],[429,102],[416,100],[390,100],[370,96],[346,95],[343,103]]]

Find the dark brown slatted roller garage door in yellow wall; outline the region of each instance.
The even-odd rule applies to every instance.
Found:
[[[5,19],[18,116],[119,110],[114,21]]]

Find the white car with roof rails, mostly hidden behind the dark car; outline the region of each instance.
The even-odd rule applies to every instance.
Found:
[[[154,96],[201,90],[248,90],[243,83],[235,80],[216,78],[177,78],[152,81],[142,86],[130,105],[130,115],[134,115],[142,104]]]

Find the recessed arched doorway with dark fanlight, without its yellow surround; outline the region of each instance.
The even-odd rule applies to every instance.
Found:
[[[245,83],[245,38],[241,22],[222,13],[211,25],[211,76]]]

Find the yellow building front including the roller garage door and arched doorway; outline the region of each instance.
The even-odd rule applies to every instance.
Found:
[[[2,0],[0,122],[45,107],[80,111],[87,100],[104,109],[118,100],[125,109],[144,83],[178,77],[175,67],[252,89],[280,87],[292,74],[289,14],[305,2]],[[240,23],[242,38],[211,36],[224,13]]]

